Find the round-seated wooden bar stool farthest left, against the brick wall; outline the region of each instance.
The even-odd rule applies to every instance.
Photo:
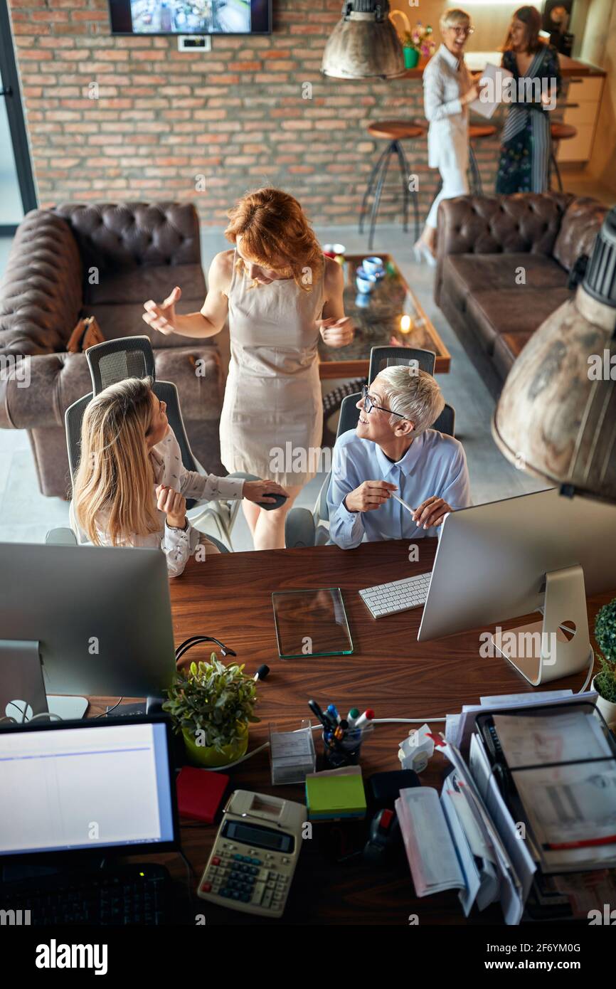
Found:
[[[408,167],[408,161],[404,153],[404,148],[402,147],[402,140],[414,140],[417,137],[422,137],[427,133],[427,129],[419,124],[415,124],[413,121],[375,121],[374,124],[370,124],[368,128],[368,134],[373,137],[385,137],[389,143],[385,151],[379,157],[376,165],[370,173],[370,178],[368,179],[368,185],[366,187],[366,192],[364,193],[364,198],[362,200],[362,208],[359,214],[359,232],[364,232],[364,217],[366,215],[366,206],[368,200],[374,193],[374,200],[372,204],[372,211],[370,214],[370,234],[368,236],[368,250],[372,250],[372,244],[375,234],[375,224],[377,222],[377,216],[379,214],[379,204],[381,203],[381,194],[383,193],[383,186],[387,177],[388,168],[390,167],[391,158],[396,155],[397,163],[399,166],[400,178],[402,180],[402,216],[403,216],[403,229],[406,231],[408,229],[408,200],[412,197],[413,210],[415,216],[415,239],[419,236],[419,207],[417,203],[417,193],[416,191],[410,190],[408,188],[408,180],[410,176],[410,169]]]

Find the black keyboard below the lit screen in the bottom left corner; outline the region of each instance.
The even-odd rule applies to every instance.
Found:
[[[29,910],[33,927],[167,924],[171,881],[152,863],[58,872],[1,883],[0,910]]]

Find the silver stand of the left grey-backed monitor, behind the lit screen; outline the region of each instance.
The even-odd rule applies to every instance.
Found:
[[[36,714],[56,714],[62,721],[79,720],[88,709],[86,697],[47,695],[39,642],[0,639],[0,718],[30,721]],[[43,718],[40,720],[44,720]]]

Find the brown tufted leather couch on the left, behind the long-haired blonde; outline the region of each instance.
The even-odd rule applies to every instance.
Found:
[[[206,282],[191,204],[67,204],[34,210],[19,226],[0,286],[0,365],[6,372],[29,357],[30,385],[23,372],[21,382],[0,375],[0,426],[28,429],[43,494],[67,494],[64,412],[91,391],[85,356],[65,349],[83,315],[95,315],[107,339],[150,336],[156,375],[178,387],[195,455],[208,471],[225,473],[218,347],[163,336],[141,319],[143,303],[175,285],[179,312],[201,309]]]

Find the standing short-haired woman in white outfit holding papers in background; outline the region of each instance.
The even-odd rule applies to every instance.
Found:
[[[423,103],[428,130],[428,164],[438,168],[442,187],[432,203],[423,232],[415,244],[417,259],[436,264],[436,218],[442,199],[469,192],[469,110],[480,95],[480,83],[464,62],[464,46],[473,34],[464,10],[446,10],[440,20],[443,44],[423,72]]]

